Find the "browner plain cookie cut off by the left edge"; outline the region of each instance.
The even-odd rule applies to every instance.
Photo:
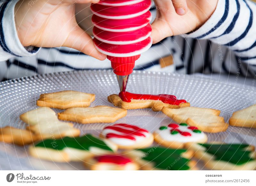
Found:
[[[36,135],[28,130],[6,126],[0,128],[0,141],[5,143],[14,143],[17,145],[26,145],[37,140]]]

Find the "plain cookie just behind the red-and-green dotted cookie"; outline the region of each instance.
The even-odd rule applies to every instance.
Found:
[[[164,107],[162,112],[177,123],[187,123],[189,126],[197,127],[199,130],[210,133],[226,131],[228,123],[220,117],[220,111],[208,108],[184,107],[170,109]]]

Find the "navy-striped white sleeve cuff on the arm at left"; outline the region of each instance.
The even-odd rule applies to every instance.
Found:
[[[29,57],[39,50],[37,47],[23,47],[20,43],[14,19],[14,7],[18,1],[0,2],[0,61],[13,56]]]

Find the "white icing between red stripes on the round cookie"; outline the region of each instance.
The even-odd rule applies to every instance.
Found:
[[[124,126],[117,126],[117,127],[124,128],[124,129],[127,129],[127,130],[136,131],[132,128],[128,128],[128,127],[124,127]],[[140,132],[140,131],[138,131],[138,132]],[[123,132],[119,132],[119,131],[109,129],[109,128],[106,128],[106,129],[104,128],[101,133],[104,137],[106,137],[106,135],[109,134],[109,133],[124,135],[124,136],[126,135]],[[144,136],[135,136],[135,135],[129,134],[129,136],[134,137],[135,140],[131,140],[131,139],[127,139],[127,138],[121,138],[121,137],[110,137],[110,138],[108,138],[108,140],[112,141],[113,143],[115,143],[117,145],[133,145],[135,143],[139,143],[139,142],[143,141],[146,137],[149,136],[148,132],[140,132],[140,133],[144,134],[145,137]]]

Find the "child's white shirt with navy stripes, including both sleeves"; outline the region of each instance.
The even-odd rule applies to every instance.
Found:
[[[0,3],[0,81],[35,74],[80,69],[110,69],[108,59],[92,58],[67,47],[23,47],[17,35],[14,6]],[[150,9],[156,16],[154,4]],[[167,37],[141,54],[134,69],[182,74],[256,72],[256,4],[219,0],[216,10],[194,32]]]

